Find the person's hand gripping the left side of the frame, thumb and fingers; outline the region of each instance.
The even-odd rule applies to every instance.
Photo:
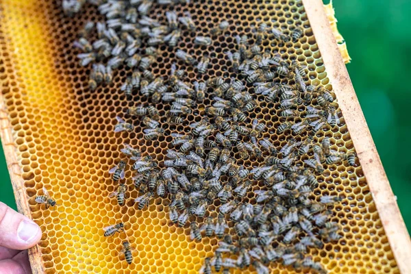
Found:
[[[36,223],[0,202],[0,274],[31,274],[25,249],[40,238]]]

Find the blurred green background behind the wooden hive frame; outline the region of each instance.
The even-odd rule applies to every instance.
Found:
[[[352,58],[349,75],[411,231],[411,1],[335,0],[334,8]],[[0,201],[16,208],[0,155]]]

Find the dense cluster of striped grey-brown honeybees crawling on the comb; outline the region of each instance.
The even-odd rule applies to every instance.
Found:
[[[265,49],[264,42],[292,45],[303,38],[303,27],[289,32],[261,23],[253,36],[232,37],[236,47],[225,51],[227,73],[205,79],[202,75],[207,75],[216,56],[197,58],[198,53],[179,49],[179,42],[189,36],[192,47],[206,51],[219,36],[227,35],[227,21],[214,24],[210,34],[197,35],[201,26],[188,12],[178,16],[170,10],[164,18],[150,15],[155,5],[174,7],[187,5],[186,1],[65,0],[63,8],[73,16],[86,2],[97,5],[105,18],[87,23],[74,42],[83,51],[80,64],[91,68],[90,90],[99,92],[118,69],[127,68],[119,92],[129,108],[116,113],[114,132],[132,133],[141,125],[146,143],[169,142],[162,160],[124,143],[122,160],[110,169],[112,179],[119,182],[112,199],[127,206],[127,189],[132,186],[123,180],[131,162],[139,210],[162,197],[169,219],[190,227],[191,240],[220,240],[214,257],[204,260],[203,273],[248,266],[269,273],[269,263],[276,261],[326,273],[306,254],[341,237],[338,223],[331,221],[331,209],[341,197],[316,197],[317,178],[328,165],[355,165],[356,155],[332,148],[329,138],[320,139],[319,133],[340,123],[333,93],[311,84],[308,69],[297,59]],[[162,45],[175,53],[169,75],[151,71]],[[135,104],[139,98],[147,103]],[[269,113],[262,110],[262,103],[271,105],[265,108]],[[159,104],[166,113],[158,110]],[[271,110],[278,114],[276,127],[266,120]],[[188,123],[192,114],[201,119]],[[179,125],[190,130],[177,130]],[[272,140],[275,132],[286,133],[286,138]],[[125,229],[123,223],[110,226],[107,234]],[[130,264],[129,245],[125,250]]]

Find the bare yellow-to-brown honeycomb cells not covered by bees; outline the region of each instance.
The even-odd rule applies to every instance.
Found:
[[[308,65],[312,84],[332,87],[300,1],[202,0],[175,5],[174,10],[177,14],[188,10],[203,34],[223,20],[230,23],[230,35],[214,39],[206,50],[193,47],[192,35],[184,35],[178,44],[197,59],[211,53],[212,68],[203,75],[204,80],[213,75],[232,76],[224,51],[234,48],[236,34],[251,37],[253,27],[264,21],[274,27],[303,27],[303,38],[292,47],[265,41],[264,49],[278,51],[284,59],[297,58]],[[164,18],[164,12],[165,8],[153,10],[158,18]],[[139,103],[129,103],[119,92],[129,71],[117,71],[110,86],[100,86],[94,92],[88,89],[90,69],[79,66],[75,57],[78,51],[72,43],[86,21],[101,19],[97,10],[86,5],[72,19],[62,14],[60,1],[3,0],[0,15],[1,92],[12,123],[32,218],[43,232],[39,245],[45,273],[197,273],[203,259],[213,255],[216,238],[191,241],[188,225],[178,228],[169,221],[169,200],[158,198],[148,209],[138,210],[132,201],[138,193],[131,182],[127,182],[130,198],[125,206],[118,206],[108,197],[117,187],[108,170],[123,157],[119,153],[123,142],[159,161],[172,146],[170,136],[153,142],[144,140],[137,120],[133,133],[114,134],[116,114]],[[173,50],[164,46],[160,49],[162,54],[152,71],[169,75],[171,63],[175,62]],[[186,69],[191,70],[188,76],[193,79],[195,73]],[[209,103],[210,97],[204,101],[205,105]],[[199,105],[199,109],[203,107]],[[277,127],[276,107],[259,101],[256,112],[249,117],[264,118],[268,127]],[[164,115],[168,107],[160,103],[157,108]],[[188,121],[199,121],[201,113],[188,115]],[[187,125],[162,127],[166,134],[171,130],[182,133],[188,132]],[[331,138],[334,149],[353,148],[343,119],[339,126],[320,133]],[[275,145],[284,145],[286,140],[286,136],[275,133],[266,136]],[[253,162],[251,158],[244,163]],[[127,178],[132,177],[129,168]],[[323,249],[311,249],[314,260],[329,273],[399,273],[361,166],[330,165],[319,176],[319,182],[316,195],[345,197],[334,207],[332,219],[343,227],[343,238],[325,244]],[[34,201],[43,186],[60,204],[55,211],[45,210]],[[130,265],[119,256],[125,234],[103,237],[103,227],[120,221],[125,223],[127,237],[137,249]],[[281,264],[271,264],[271,269],[272,273],[293,273]]]

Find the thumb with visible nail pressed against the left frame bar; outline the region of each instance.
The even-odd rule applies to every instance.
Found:
[[[41,238],[41,229],[34,221],[0,202],[0,246],[28,249]]]

